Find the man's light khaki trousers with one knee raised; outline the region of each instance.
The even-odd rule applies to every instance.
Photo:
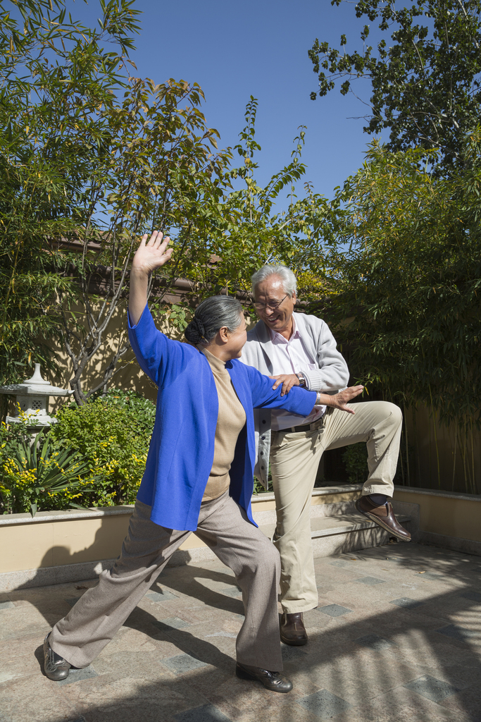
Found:
[[[281,554],[284,612],[317,606],[311,539],[311,495],[322,453],[366,441],[369,476],[363,495],[392,497],[399,454],[402,413],[388,401],[350,404],[356,414],[328,408],[310,431],[276,431],[270,446],[277,526],[274,544]]]

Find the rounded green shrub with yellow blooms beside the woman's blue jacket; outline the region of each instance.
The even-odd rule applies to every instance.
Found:
[[[78,452],[87,463],[89,482],[82,503],[130,504],[144,474],[154,427],[155,406],[133,392],[109,391],[84,406],[69,404],[58,412],[50,435],[58,449]]]

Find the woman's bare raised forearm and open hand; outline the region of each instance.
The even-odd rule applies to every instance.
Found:
[[[161,232],[154,230],[148,243],[147,234],[142,236],[136,254],[133,256],[131,287],[128,295],[128,315],[132,326],[136,326],[140,321],[147,305],[147,287],[151,272],[167,264],[172,256],[173,248],[167,248],[169,240],[169,236],[164,238]]]

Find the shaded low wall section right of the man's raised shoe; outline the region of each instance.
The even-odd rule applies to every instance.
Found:
[[[425,495],[396,487],[394,499],[419,504],[420,531],[481,541],[481,497]]]

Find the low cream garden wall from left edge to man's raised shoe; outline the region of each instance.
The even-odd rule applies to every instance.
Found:
[[[312,505],[350,501],[359,495],[358,484],[314,490]],[[0,516],[0,591],[45,586],[92,578],[112,565],[120,553],[133,505],[63,510]],[[252,512],[259,524],[275,520],[272,493],[252,497]],[[211,550],[191,534],[169,565],[200,562]]]

